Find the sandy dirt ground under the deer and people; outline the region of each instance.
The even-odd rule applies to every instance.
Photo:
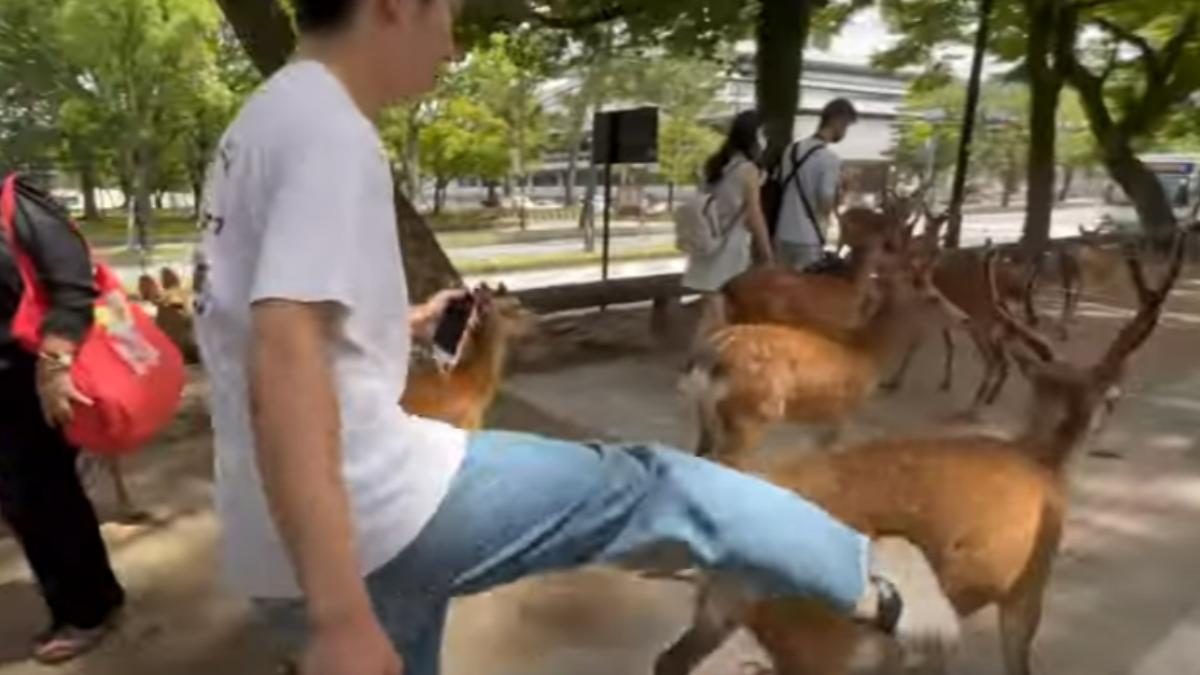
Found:
[[[1128,316],[1123,306],[1126,293],[1090,298],[1068,351],[1093,358]],[[642,311],[548,322],[542,339],[515,356],[518,372],[492,425],[689,446],[694,420],[677,400],[674,378],[690,318],[679,311],[666,338],[650,335]],[[1073,468],[1073,512],[1037,644],[1039,673],[1200,673],[1200,586],[1194,581],[1200,568],[1198,338],[1200,281],[1193,276],[1181,283],[1163,328],[1135,360],[1116,418]],[[905,393],[874,401],[852,437],[961,430],[952,416],[964,406],[978,370],[965,340],[960,344],[962,368],[953,395],[935,390],[941,350],[929,346]],[[154,522],[104,526],[131,598],[112,643],[54,670],[28,663],[29,640],[44,615],[16,545],[0,534],[0,675],[274,671],[278,653],[263,626],[214,575],[217,524],[210,509],[211,448],[199,378],[188,395],[175,428],[130,466],[136,498],[152,512]],[[1015,377],[985,426],[997,432],[1016,428],[1026,395]],[[806,447],[803,432],[781,429],[762,458]],[[102,513],[110,513],[107,482],[92,483]],[[679,584],[608,571],[534,579],[455,607],[444,671],[649,673],[655,653],[682,631],[689,604],[689,590]],[[991,611],[968,627],[953,671],[1002,673]],[[740,674],[761,658],[752,641],[738,635],[702,673]]]

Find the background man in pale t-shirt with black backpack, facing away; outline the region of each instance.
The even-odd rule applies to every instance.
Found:
[[[858,121],[858,110],[845,98],[835,98],[821,112],[821,124],[811,138],[797,141],[781,162],[784,201],[775,229],[775,258],[800,269],[821,259],[829,223],[838,207],[841,159],[830,145],[846,138]]]

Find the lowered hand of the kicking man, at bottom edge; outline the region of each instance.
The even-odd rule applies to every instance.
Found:
[[[317,628],[300,675],[403,675],[404,665],[374,617]]]

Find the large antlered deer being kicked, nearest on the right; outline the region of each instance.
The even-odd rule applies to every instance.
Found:
[[[996,311],[1013,335],[1007,346],[1033,386],[1022,434],[881,440],[839,454],[790,458],[762,477],[868,536],[911,540],[934,566],[960,616],[998,608],[1004,671],[1031,675],[1033,639],[1068,506],[1069,460],[1112,414],[1128,362],[1154,333],[1180,276],[1184,246],[1181,234],[1154,288],[1140,261],[1128,255],[1138,311],[1090,365],[1063,359],[1009,313],[994,291]],[[995,289],[995,253],[989,276]],[[660,655],[656,675],[690,673],[739,626],[755,634],[779,675],[847,671],[860,638],[848,620],[803,599],[730,592],[718,579],[702,578],[700,586],[692,626]]]

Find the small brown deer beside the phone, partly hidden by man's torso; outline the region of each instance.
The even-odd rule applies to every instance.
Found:
[[[536,325],[536,317],[504,286],[494,294],[484,286],[475,298],[478,319],[460,360],[449,370],[410,372],[401,400],[410,414],[468,431],[484,428],[499,393],[511,341],[530,335]]]

